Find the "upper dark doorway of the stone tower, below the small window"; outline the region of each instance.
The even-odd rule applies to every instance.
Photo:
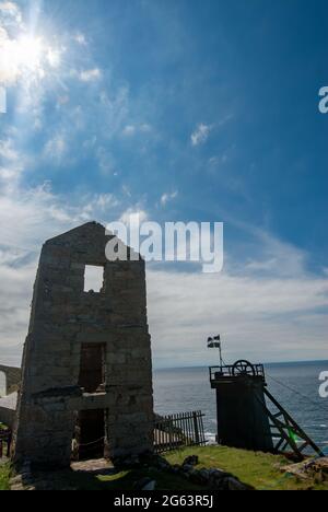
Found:
[[[105,345],[82,345],[79,385],[84,388],[85,393],[104,391]]]

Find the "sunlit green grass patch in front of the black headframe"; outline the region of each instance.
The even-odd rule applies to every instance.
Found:
[[[328,482],[301,480],[283,473],[291,465],[284,456],[247,452],[224,446],[190,447],[166,455],[171,464],[181,464],[189,455],[198,455],[199,468],[220,468],[258,490],[328,490]]]

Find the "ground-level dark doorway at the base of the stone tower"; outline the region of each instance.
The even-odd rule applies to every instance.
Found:
[[[75,428],[79,459],[103,458],[105,453],[105,411],[81,410]]]

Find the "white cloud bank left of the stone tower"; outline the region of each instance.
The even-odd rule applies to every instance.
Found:
[[[16,151],[15,148],[12,148]],[[24,161],[24,155],[17,153]],[[2,187],[2,174],[5,177]],[[1,361],[20,364],[27,334],[33,283],[42,244],[90,220],[117,218],[112,194],[78,200],[55,196],[48,185],[25,188],[14,167],[0,168],[0,352]]]

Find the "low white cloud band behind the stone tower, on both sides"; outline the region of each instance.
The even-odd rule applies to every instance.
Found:
[[[44,186],[0,188],[1,360],[20,363],[27,331],[37,256],[45,240],[93,219],[115,220],[113,195],[82,197],[68,206]],[[148,219],[142,206],[125,211]],[[14,226],[14,228],[13,228]],[[149,324],[156,365],[207,364],[207,336],[221,331],[225,357],[254,361],[320,359],[327,351],[328,279],[308,276],[306,255],[257,231],[258,255],[221,275],[148,268]],[[274,260],[274,265],[272,264]],[[294,267],[294,272],[291,269]],[[290,275],[289,275],[290,274]]]

